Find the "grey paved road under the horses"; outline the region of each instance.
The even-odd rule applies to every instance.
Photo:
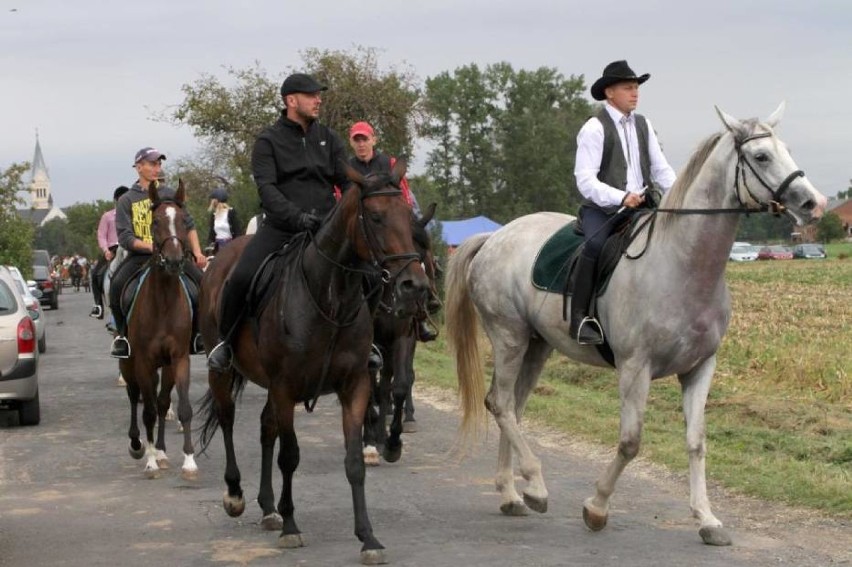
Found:
[[[103,325],[89,319],[88,294],[66,292],[48,311],[41,358],[42,423],[14,425],[0,412],[0,565],[357,565],[349,487],[343,471],[336,400],[298,414],[302,462],[294,490],[307,547],[282,550],[260,529],[259,508],[243,517],[221,507],[221,436],[198,459],[201,477],[180,479],[181,437],[170,424],[173,466],[143,478],[127,453],[129,404],[115,385]],[[192,398],[206,389],[203,357],[193,357]],[[550,489],[543,515],[508,518],[493,490],[496,436],[477,455],[446,457],[456,417],[435,392],[419,392],[421,431],[406,436],[402,460],[370,469],[367,498],[375,533],[398,566],[829,565],[852,561],[850,527],[714,490],[715,511],[734,545],[701,544],[689,517],[685,482],[631,465],[618,486],[609,526],[591,533],[580,511],[608,451],[538,434]],[[250,386],[235,433],[248,498],[257,493],[257,421],[263,393]],[[275,473],[276,489],[280,477]]]

